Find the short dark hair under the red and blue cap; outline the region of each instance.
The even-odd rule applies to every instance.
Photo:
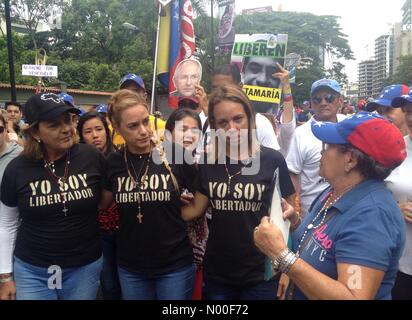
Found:
[[[399,166],[399,164],[394,165],[392,168],[385,168],[383,165],[379,164],[376,160],[372,159],[370,156],[355,148],[350,144],[338,145],[342,152],[352,152],[352,154],[357,158],[358,164],[355,169],[357,169],[366,179],[377,179],[385,180],[391,172]]]

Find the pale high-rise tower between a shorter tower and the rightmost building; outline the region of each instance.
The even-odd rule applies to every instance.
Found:
[[[375,40],[375,64],[373,70],[372,96],[378,97],[384,87],[385,80],[391,75],[392,46],[391,36],[383,35]]]

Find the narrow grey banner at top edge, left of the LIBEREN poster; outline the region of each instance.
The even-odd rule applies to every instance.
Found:
[[[235,41],[235,0],[219,0],[217,43],[220,52],[230,52]]]

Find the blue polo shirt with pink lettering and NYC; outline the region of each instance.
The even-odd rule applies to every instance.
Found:
[[[321,210],[330,192],[322,192],[293,234],[296,252],[306,227]],[[398,205],[382,181],[366,180],[347,192],[327,215],[332,218],[309,231],[300,257],[316,270],[337,280],[337,264],[365,266],[385,272],[375,299],[391,299],[398,262],[405,243],[405,224]],[[323,213],[313,223],[319,224]],[[304,243],[304,242],[303,242]],[[306,299],[296,287],[294,299]]]

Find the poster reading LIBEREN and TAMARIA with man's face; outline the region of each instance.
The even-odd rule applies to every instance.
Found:
[[[274,113],[279,109],[280,80],[272,75],[285,65],[287,34],[237,34],[231,63],[237,65],[243,89],[256,112]]]

